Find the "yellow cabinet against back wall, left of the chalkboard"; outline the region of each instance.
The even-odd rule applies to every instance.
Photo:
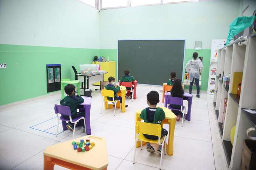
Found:
[[[94,64],[94,61],[92,62]],[[115,61],[109,61],[109,62],[100,62],[96,61],[95,64],[100,65],[100,70],[105,70],[107,74],[105,74],[104,81],[108,81],[108,78],[110,76],[115,77]],[[116,80],[117,81],[117,80]],[[94,83],[93,85],[100,85],[100,82]]]

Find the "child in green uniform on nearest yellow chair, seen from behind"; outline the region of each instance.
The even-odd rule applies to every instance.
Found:
[[[157,91],[151,91],[147,94],[147,104],[149,107],[143,109],[139,117],[147,123],[161,124],[165,119],[165,113],[162,108],[156,107],[159,103],[159,94]],[[166,131],[166,130],[165,130]],[[158,136],[143,134],[147,139],[157,140]],[[163,129],[162,129],[163,136]],[[150,143],[147,143],[147,151],[155,152]],[[161,155],[161,146],[158,147],[157,152]]]

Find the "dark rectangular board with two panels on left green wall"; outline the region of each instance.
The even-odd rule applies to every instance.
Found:
[[[47,74],[47,92],[58,91],[61,89],[61,70],[60,64],[48,64],[46,65]]]

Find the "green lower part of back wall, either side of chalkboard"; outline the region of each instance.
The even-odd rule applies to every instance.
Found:
[[[186,49],[185,50],[185,63],[188,63],[190,59],[192,59],[193,52],[198,52],[198,56],[203,57],[203,73],[202,73],[202,84],[201,90],[207,90],[208,84],[208,76],[209,76],[209,66],[210,66],[210,59],[211,59],[211,50],[210,49],[202,49],[202,50],[195,50],[195,49]],[[109,60],[117,62],[117,49],[100,49],[100,56],[109,57]],[[185,67],[184,67],[185,68]],[[125,68],[119,68],[125,69]],[[132,70],[130,70],[132,74]],[[170,70],[171,72],[171,70]],[[169,78],[166,78],[167,80]],[[139,80],[138,80],[139,83]],[[164,83],[164,82],[163,82]]]

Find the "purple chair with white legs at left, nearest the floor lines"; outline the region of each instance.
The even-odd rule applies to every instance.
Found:
[[[71,122],[74,124],[74,131],[73,131],[73,138],[74,139],[74,134],[75,134],[75,124],[77,124],[77,122],[79,122],[79,120],[83,119],[84,121],[84,125],[85,125],[85,117],[84,116],[79,116],[76,118],[71,118],[71,111],[70,111],[70,107],[68,106],[63,106],[63,105],[54,105],[54,110],[58,119],[58,125],[60,120],[65,121],[65,122]],[[69,116],[69,119],[64,118],[63,116],[58,116],[58,114],[60,115],[65,115],[65,116]],[[57,125],[57,131],[56,131],[56,137],[58,134],[58,125]],[[85,130],[86,132],[86,130]]]

